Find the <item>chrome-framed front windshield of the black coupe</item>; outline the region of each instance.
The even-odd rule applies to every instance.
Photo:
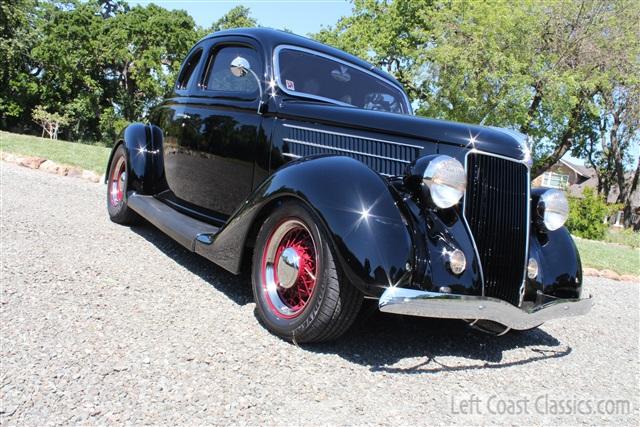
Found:
[[[301,95],[365,110],[409,114],[404,93],[383,77],[337,58],[298,47],[276,50],[280,88]]]

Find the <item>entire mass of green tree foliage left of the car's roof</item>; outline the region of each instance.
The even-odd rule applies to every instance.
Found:
[[[113,141],[143,119],[208,32],[185,11],[121,0],[7,0],[0,11],[0,127],[28,131],[42,106],[68,116],[76,140]],[[211,30],[255,25],[239,6]]]

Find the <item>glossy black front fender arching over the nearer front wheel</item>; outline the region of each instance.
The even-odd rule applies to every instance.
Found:
[[[411,283],[413,244],[387,181],[343,156],[306,158],[272,174],[231,216],[210,245],[196,252],[239,272],[242,250],[262,208],[296,198],[312,209],[329,234],[346,279],[369,295]]]

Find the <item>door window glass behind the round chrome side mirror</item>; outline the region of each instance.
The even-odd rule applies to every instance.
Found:
[[[258,82],[253,74],[249,72],[242,77],[237,77],[231,73],[231,61],[239,56],[249,61],[251,71],[256,76],[262,75],[262,64],[255,50],[244,46],[225,46],[211,52],[205,69],[202,89],[232,92],[243,98],[256,98],[258,96]]]

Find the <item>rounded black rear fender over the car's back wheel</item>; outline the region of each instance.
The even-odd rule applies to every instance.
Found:
[[[132,123],[120,133],[107,163],[105,182],[118,147],[127,156],[127,190],[140,194],[157,194],[167,188],[162,160],[162,130],[157,126]]]

